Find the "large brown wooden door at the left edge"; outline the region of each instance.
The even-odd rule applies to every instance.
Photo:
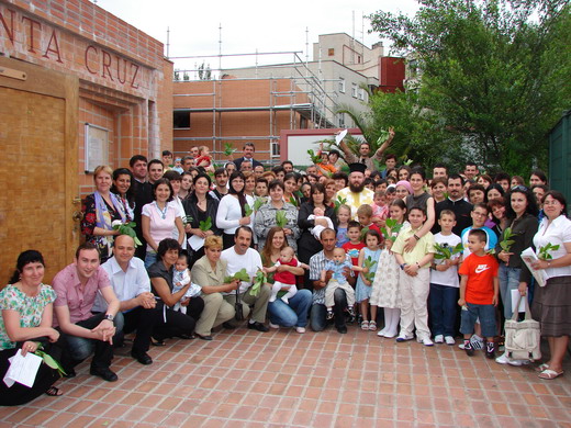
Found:
[[[0,285],[25,249],[43,254],[46,283],[72,261],[77,97],[77,78],[0,57]]]

